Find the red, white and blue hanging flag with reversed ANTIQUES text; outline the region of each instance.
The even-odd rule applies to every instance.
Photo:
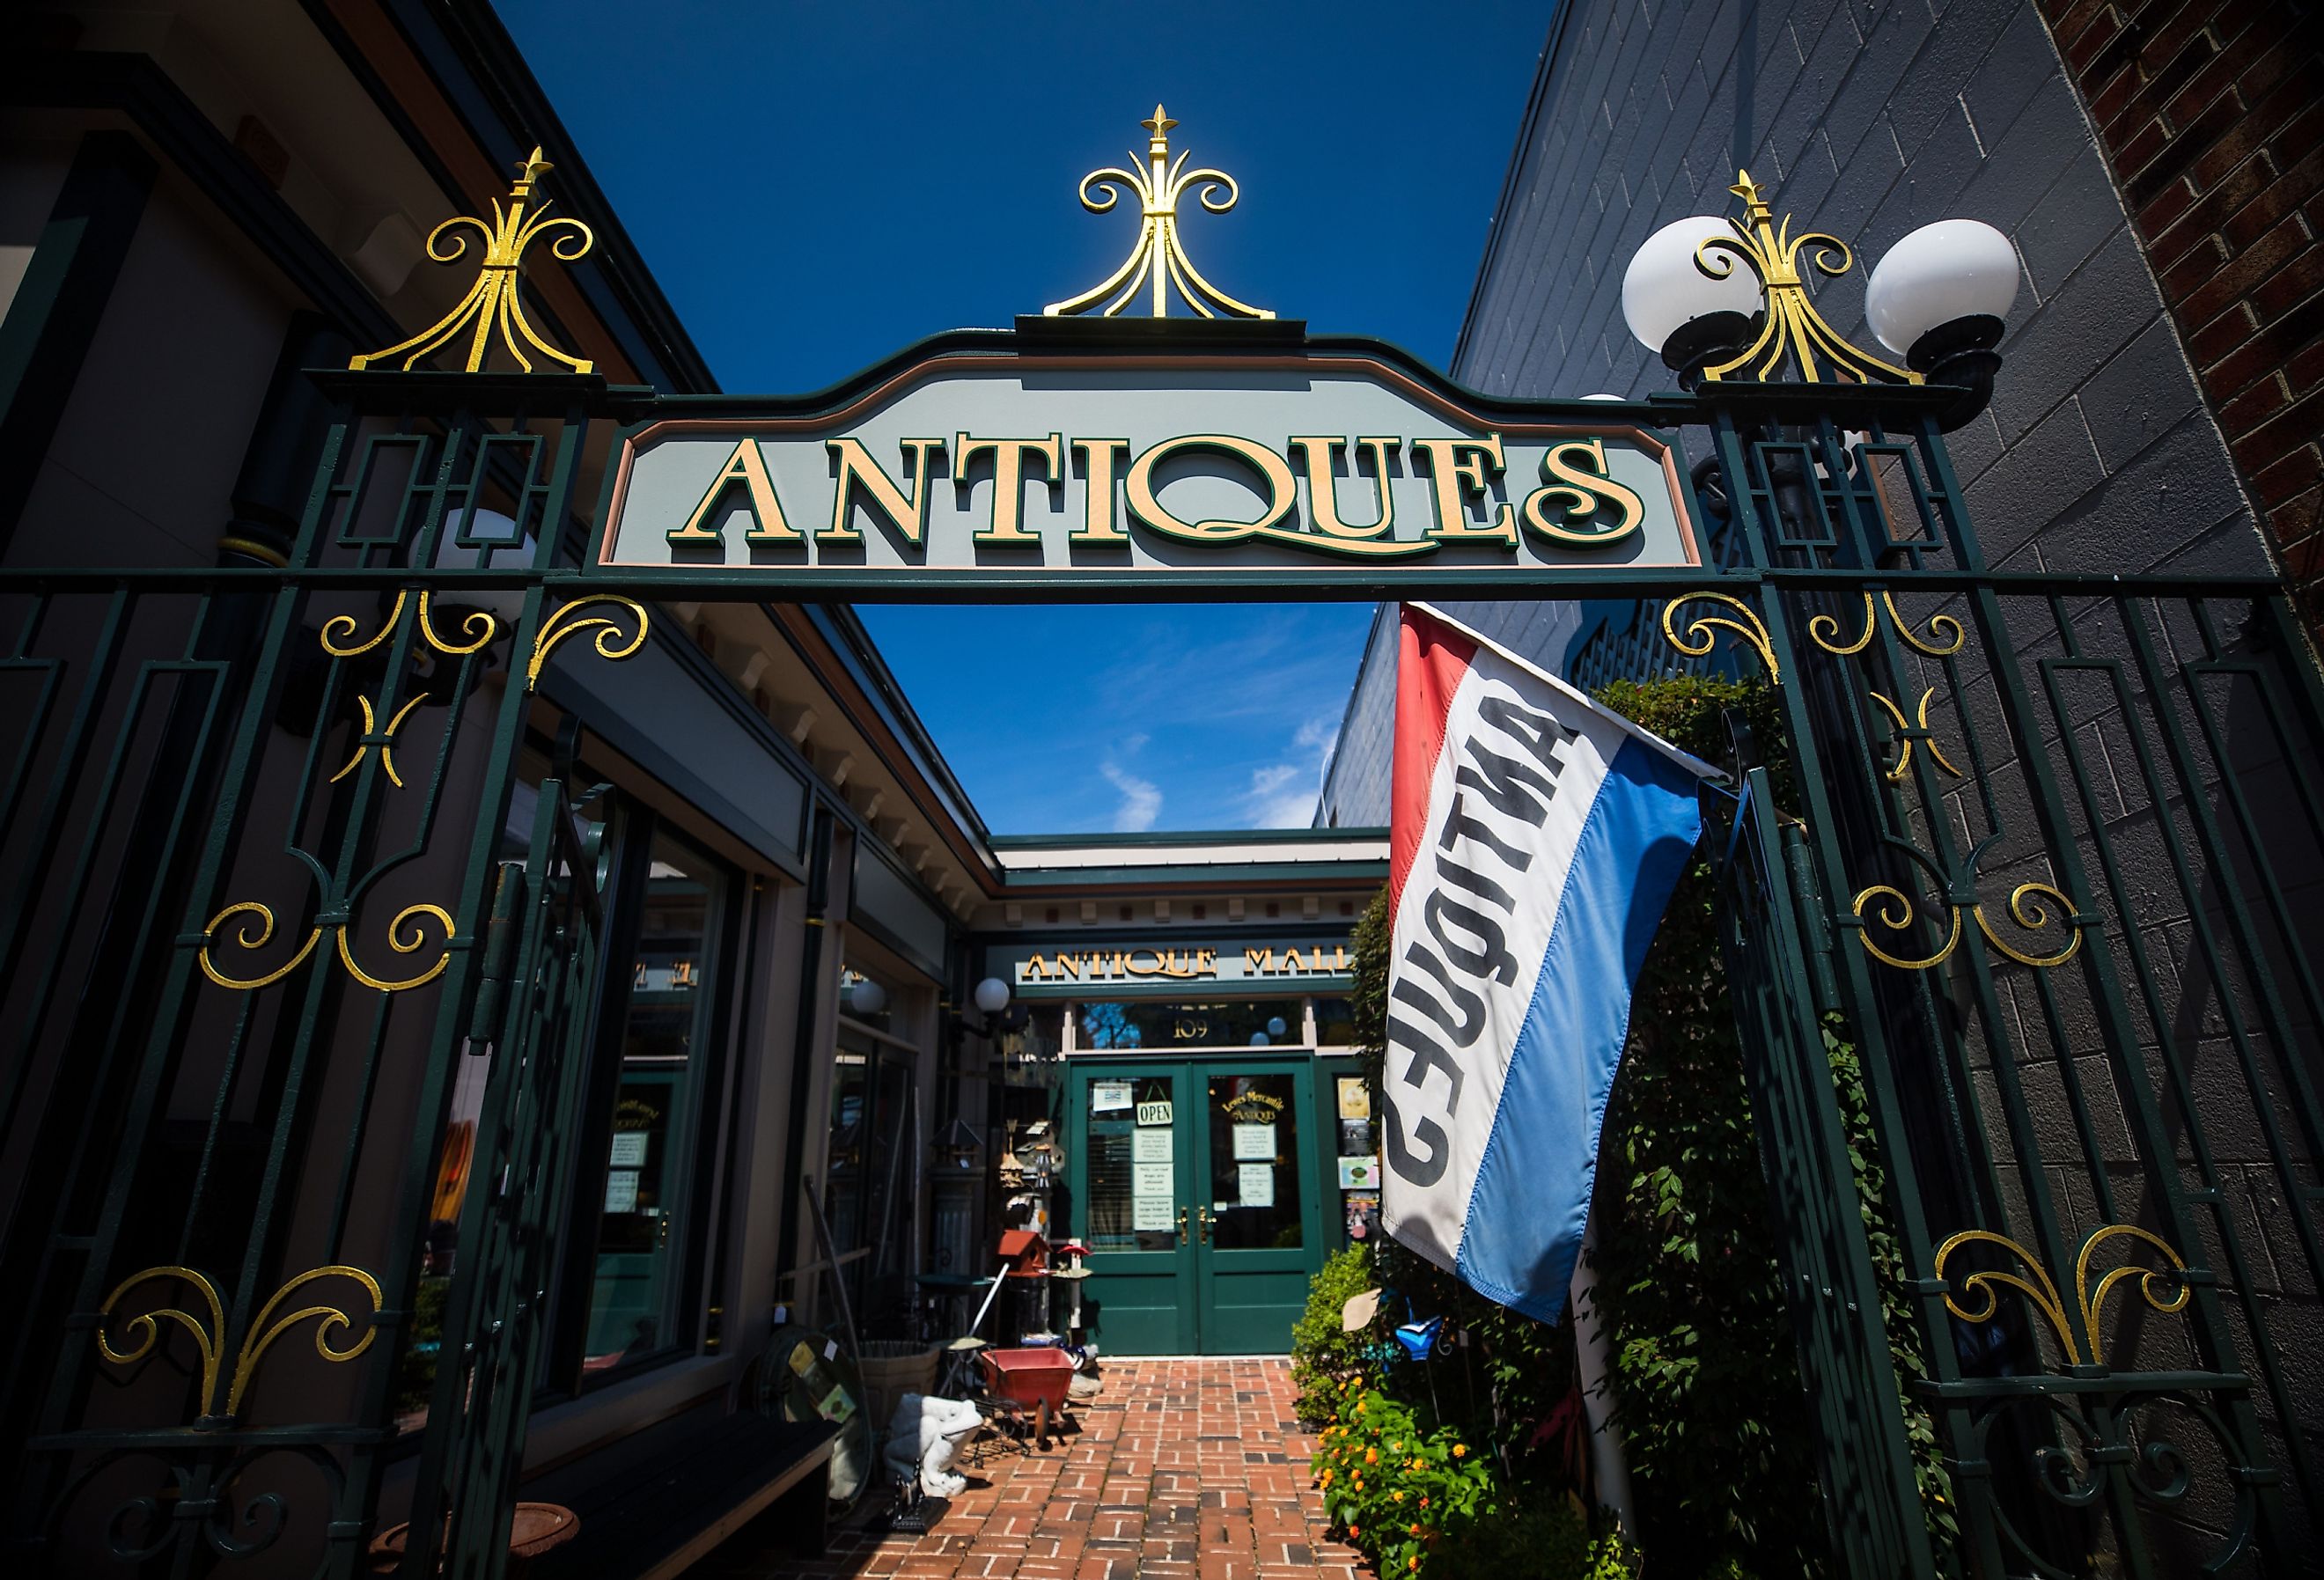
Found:
[[[1380,1224],[1555,1322],[1706,762],[1404,606]]]

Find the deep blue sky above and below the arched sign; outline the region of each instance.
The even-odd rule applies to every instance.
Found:
[[[500,0],[727,390],[811,390],[1095,286],[1088,170],[1234,174],[1185,242],[1318,332],[1452,351],[1545,5]],[[555,177],[551,177],[553,181]],[[862,609],[1002,834],[1306,823],[1367,604]]]

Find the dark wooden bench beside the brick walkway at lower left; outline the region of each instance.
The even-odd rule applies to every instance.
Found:
[[[535,1559],[530,1575],[665,1580],[760,1515],[802,1554],[820,1554],[837,1436],[830,1422],[688,1413],[548,1471],[523,1496],[574,1510],[581,1534]]]

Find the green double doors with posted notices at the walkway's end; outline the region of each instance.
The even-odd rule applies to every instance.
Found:
[[[1283,1355],[1325,1257],[1306,1057],[1071,1060],[1071,1231],[1106,1355]]]

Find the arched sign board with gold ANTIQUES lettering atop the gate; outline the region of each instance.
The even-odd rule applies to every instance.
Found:
[[[820,411],[734,409],[625,435],[597,567],[902,588],[1701,562],[1652,432],[1485,402],[1385,346],[946,349]]]

